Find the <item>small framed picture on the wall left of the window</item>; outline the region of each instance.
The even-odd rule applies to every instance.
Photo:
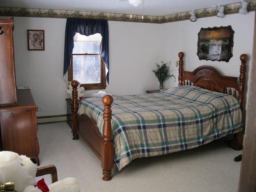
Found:
[[[28,50],[44,51],[44,30],[28,30]]]

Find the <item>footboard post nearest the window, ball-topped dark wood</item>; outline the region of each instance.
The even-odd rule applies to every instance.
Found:
[[[77,81],[72,81],[71,82],[72,85],[72,132],[73,132],[73,139],[74,140],[78,140],[78,134],[77,134],[77,118],[76,118],[76,114],[77,114],[77,110],[78,110],[78,91],[77,91],[77,86],[78,86],[78,82]]]

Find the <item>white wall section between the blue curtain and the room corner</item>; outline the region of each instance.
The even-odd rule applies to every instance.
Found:
[[[110,77],[106,92],[111,94],[144,94],[157,88],[152,78],[158,62],[159,24],[108,22]],[[96,92],[90,91],[93,93]]]

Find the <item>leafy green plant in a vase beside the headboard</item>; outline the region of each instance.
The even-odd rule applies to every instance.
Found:
[[[161,62],[162,65],[160,66],[159,64],[156,63],[156,70],[153,70],[154,74],[156,75],[160,86],[159,86],[159,92],[162,92],[164,90],[164,81],[167,80],[168,78],[174,77],[174,82],[176,80],[176,77],[173,74],[170,74],[170,64],[167,66],[167,63]]]

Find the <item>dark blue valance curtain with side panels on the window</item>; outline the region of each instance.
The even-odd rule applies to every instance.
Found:
[[[65,48],[64,48],[64,76],[70,67],[72,58],[72,50],[74,48],[74,35],[76,32],[82,35],[92,35],[100,33],[102,36],[101,42],[101,56],[109,70],[108,64],[108,21],[98,19],[81,19],[81,18],[67,18],[66,32],[65,32]],[[106,80],[109,83],[109,75],[106,74]]]

